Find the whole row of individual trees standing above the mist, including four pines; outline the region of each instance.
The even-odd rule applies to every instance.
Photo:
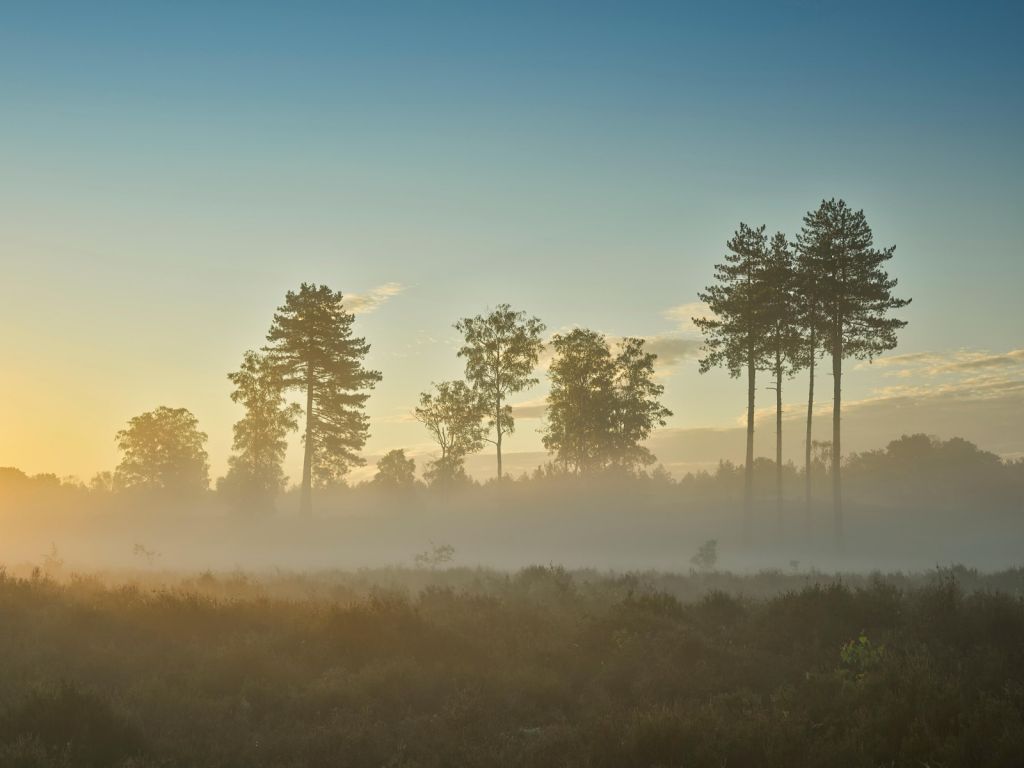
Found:
[[[714,281],[698,297],[710,316],[694,317],[703,335],[701,373],[725,368],[746,377],[744,509],[753,497],[754,415],[759,372],[775,392],[777,504],[782,505],[782,388],[809,372],[806,502],[811,503],[811,429],[816,362],[831,357],[834,414],[830,476],[836,536],[842,538],[841,403],[843,360],[871,358],[896,345],[906,324],[890,315],[909,300],[893,296],[885,271],[892,247],[878,249],[862,211],[842,200],[822,201],[806,214],[791,242],[781,232],[740,223],[726,243]],[[266,506],[284,490],[289,433],[302,425],[300,512],[309,514],[316,487],[343,479],[365,463],[369,437],[366,403],[381,373],[365,366],[367,341],[354,335],[354,315],[340,292],[302,284],[273,314],[266,343],[247,350],[228,374],[231,399],[244,415],[233,427],[232,454],[219,487],[238,503]],[[656,355],[641,338],[609,340],[583,328],[544,340],[538,317],[500,304],[455,323],[465,378],[432,384],[414,410],[439,455],[424,473],[442,487],[465,481],[464,462],[489,442],[497,476],[504,476],[503,440],[515,430],[509,399],[539,383],[542,353],[551,353],[543,443],[554,470],[579,477],[608,470],[635,471],[655,459],[644,441],[672,412],[662,404],[654,378]],[[302,403],[292,402],[298,393]],[[112,477],[121,487],[206,488],[206,435],[184,409],[160,408],[132,419],[118,432],[123,460]],[[378,463],[383,484],[414,476],[401,450]],[[398,479],[396,479],[398,478]]]

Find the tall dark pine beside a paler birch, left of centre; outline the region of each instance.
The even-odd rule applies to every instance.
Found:
[[[352,336],[355,316],[346,312],[341,292],[303,283],[289,291],[273,315],[264,347],[284,389],[305,393],[302,495],[299,511],[312,512],[312,485],[338,480],[364,461],[370,423],[364,408],[367,390],[381,380],[364,368],[370,351],[365,339]]]

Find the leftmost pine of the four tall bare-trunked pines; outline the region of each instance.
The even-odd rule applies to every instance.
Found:
[[[746,461],[743,527],[749,535],[754,497],[754,404],[757,370],[764,355],[765,312],[762,270],[767,259],[765,226],[740,223],[726,243],[725,261],[715,265],[716,283],[697,296],[713,312],[693,317],[705,337],[700,373],[723,367],[733,378],[746,372]]]

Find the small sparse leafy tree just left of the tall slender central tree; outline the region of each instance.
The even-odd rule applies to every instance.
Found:
[[[443,487],[466,479],[463,462],[483,447],[487,428],[482,423],[484,403],[465,382],[442,381],[434,389],[420,394],[414,415],[441,451],[424,476],[430,484]]]

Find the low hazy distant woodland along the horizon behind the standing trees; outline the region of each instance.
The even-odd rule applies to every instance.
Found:
[[[830,468],[828,443],[816,442],[811,463],[811,483],[815,488],[829,486]],[[336,504],[345,506],[355,498],[379,499],[385,502],[412,504],[419,498],[436,497],[454,500],[473,494],[484,494],[498,487],[496,479],[479,482],[463,475],[457,483],[438,485],[419,479],[416,463],[406,458],[401,451],[387,454],[377,463],[378,470],[372,479],[349,485],[339,485],[324,490],[324,508]],[[805,486],[805,469],[792,462],[782,465],[785,494],[799,498]],[[931,507],[936,509],[990,510],[1021,509],[1024,505],[1024,459],[1002,460],[997,455],[983,451],[969,440],[953,437],[942,440],[924,434],[904,435],[885,449],[854,453],[846,457],[844,470],[847,494],[851,501],[878,507]],[[15,502],[90,502],[102,503],[124,499],[148,500],[170,503],[197,501],[189,495],[184,499],[166,489],[146,487],[121,487],[114,483],[110,473],[96,475],[85,483],[77,478],[59,478],[54,474],[28,475],[12,467],[0,468],[0,503]],[[774,505],[776,482],[775,462],[758,458],[753,467],[753,494],[755,502]],[[746,490],[746,472],[741,465],[722,461],[714,471],[689,472],[674,478],[660,465],[649,471],[605,472],[599,477],[583,480],[561,472],[549,463],[532,473],[506,477],[501,481],[504,497],[514,502],[517,495],[522,500],[535,493],[557,499],[564,493],[579,493],[586,487],[598,495],[625,494],[641,500],[662,501],[714,501],[739,504]],[[282,492],[282,501],[298,489]],[[215,490],[206,489],[203,497],[211,504],[224,509],[236,509],[234,490],[223,481]],[[270,507],[245,507],[242,511],[261,514]]]

